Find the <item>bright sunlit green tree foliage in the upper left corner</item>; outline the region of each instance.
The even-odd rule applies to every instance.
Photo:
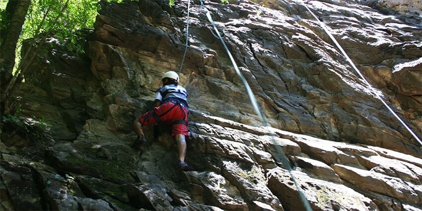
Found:
[[[110,0],[121,1],[121,0]],[[0,0],[0,29],[5,29],[13,20],[12,14],[6,14],[5,9],[7,3],[12,2],[7,0]],[[15,1],[13,1],[15,2]],[[22,1],[24,2],[24,1]],[[23,8],[23,7],[22,7]],[[23,66],[22,61],[29,64],[30,61],[40,54],[43,45],[46,43],[47,38],[54,38],[56,42],[63,44],[69,50],[76,53],[84,53],[82,43],[77,42],[77,32],[82,28],[93,28],[97,10],[100,8],[98,0],[31,0],[29,8],[26,12],[26,17],[23,22],[22,31],[20,31],[19,39],[15,49],[10,49],[3,54],[15,54],[14,67],[5,70],[7,73],[13,74],[10,81],[2,81],[7,84],[7,90],[2,90],[4,95],[1,96],[1,101],[5,105],[1,107],[4,114],[13,114],[18,102],[12,101],[11,98],[15,97],[19,90],[19,86],[24,81],[25,71],[28,66]],[[26,7],[24,8],[26,9]],[[25,11],[19,11],[17,14],[24,14]],[[21,19],[22,17],[19,17]],[[20,22],[18,20],[16,22]],[[19,33],[18,30],[10,33]],[[17,34],[16,34],[17,35]],[[33,38],[33,39],[30,39]],[[28,40],[30,48],[25,54],[21,54],[22,43]],[[2,40],[1,40],[2,41]],[[9,41],[14,45],[14,41]],[[20,56],[22,55],[22,58]],[[10,64],[10,66],[13,64]],[[3,111],[4,109],[4,111]]]

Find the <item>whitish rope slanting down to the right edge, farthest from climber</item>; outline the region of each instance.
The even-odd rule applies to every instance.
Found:
[[[421,139],[419,139],[418,136],[416,136],[416,134],[412,131],[412,129],[410,129],[409,126],[406,125],[406,123],[396,114],[396,112],[393,111],[393,109],[391,109],[391,107],[378,94],[377,90],[375,90],[375,88],[372,87],[372,85],[365,79],[365,77],[362,75],[362,73],[356,68],[356,66],[354,65],[354,63],[352,62],[352,60],[349,58],[349,56],[347,55],[347,53],[345,52],[345,50],[343,50],[342,46],[337,42],[336,38],[334,38],[334,36],[328,30],[328,27],[324,24],[324,22],[322,22],[321,20],[319,20],[319,18],[311,11],[311,9],[309,9],[309,7],[306,5],[306,3],[303,3],[303,5],[305,5],[306,9],[320,23],[320,25],[322,26],[322,28],[324,29],[324,31],[328,34],[328,36],[331,38],[331,40],[336,44],[337,48],[340,49],[340,51],[342,52],[342,54],[346,58],[346,60],[350,63],[350,65],[352,66],[353,70],[355,70],[357,72],[357,74],[360,76],[360,78],[362,78],[362,80],[366,83],[366,85],[372,90],[372,92],[375,94],[375,96],[385,105],[385,107],[387,107],[387,109],[393,114],[393,116],[396,117],[400,121],[400,123],[409,131],[409,133],[412,134],[412,136],[417,141],[419,141],[419,143],[421,143],[421,145],[422,145]]]

